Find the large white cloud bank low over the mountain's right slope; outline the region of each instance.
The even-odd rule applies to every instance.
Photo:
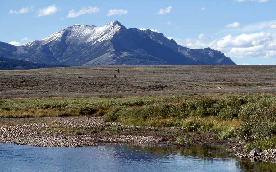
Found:
[[[169,37],[171,38],[173,37]],[[173,39],[179,45],[189,48],[210,47],[223,52],[228,57],[276,57],[276,34],[271,33],[229,34],[220,38],[199,36],[195,39]]]

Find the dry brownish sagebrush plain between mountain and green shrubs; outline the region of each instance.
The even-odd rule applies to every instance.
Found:
[[[273,65],[87,66],[0,71],[1,98],[275,91]]]

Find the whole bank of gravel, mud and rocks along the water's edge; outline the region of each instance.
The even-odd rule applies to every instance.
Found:
[[[178,137],[192,140],[191,145],[218,145],[227,140],[216,140],[212,133],[185,133],[180,128],[123,126],[105,123],[101,117],[20,118],[0,120],[0,143],[40,147],[83,147],[107,143],[169,144]],[[234,147],[233,147],[234,145]],[[252,162],[276,163],[276,149],[256,154],[241,153],[244,143],[230,143],[233,156],[251,158]]]

